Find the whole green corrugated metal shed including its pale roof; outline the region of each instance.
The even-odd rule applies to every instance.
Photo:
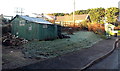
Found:
[[[58,36],[57,25],[40,18],[16,15],[11,25],[13,35],[27,40],[55,39]]]

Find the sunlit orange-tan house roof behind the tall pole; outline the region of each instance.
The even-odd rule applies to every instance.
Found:
[[[75,20],[85,20],[87,18],[87,14],[83,15],[75,15]],[[73,15],[71,16],[58,16],[56,21],[73,21]]]

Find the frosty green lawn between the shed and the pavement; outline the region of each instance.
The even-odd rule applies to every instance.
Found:
[[[23,53],[29,58],[51,58],[81,48],[89,48],[93,44],[102,40],[99,35],[93,32],[80,31],[74,35],[69,35],[71,38],[56,39],[53,41],[31,41],[23,45]]]

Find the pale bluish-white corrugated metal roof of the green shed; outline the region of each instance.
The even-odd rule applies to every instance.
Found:
[[[52,24],[46,20],[40,19],[40,18],[34,18],[34,17],[28,17],[28,16],[20,16],[25,20],[31,21],[31,22],[36,22],[36,23],[42,23],[42,24]]]

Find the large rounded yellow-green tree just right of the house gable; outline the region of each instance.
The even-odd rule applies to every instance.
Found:
[[[103,24],[104,16],[105,16],[105,9],[104,8],[94,8],[91,9],[89,12],[90,19],[92,22]]]

